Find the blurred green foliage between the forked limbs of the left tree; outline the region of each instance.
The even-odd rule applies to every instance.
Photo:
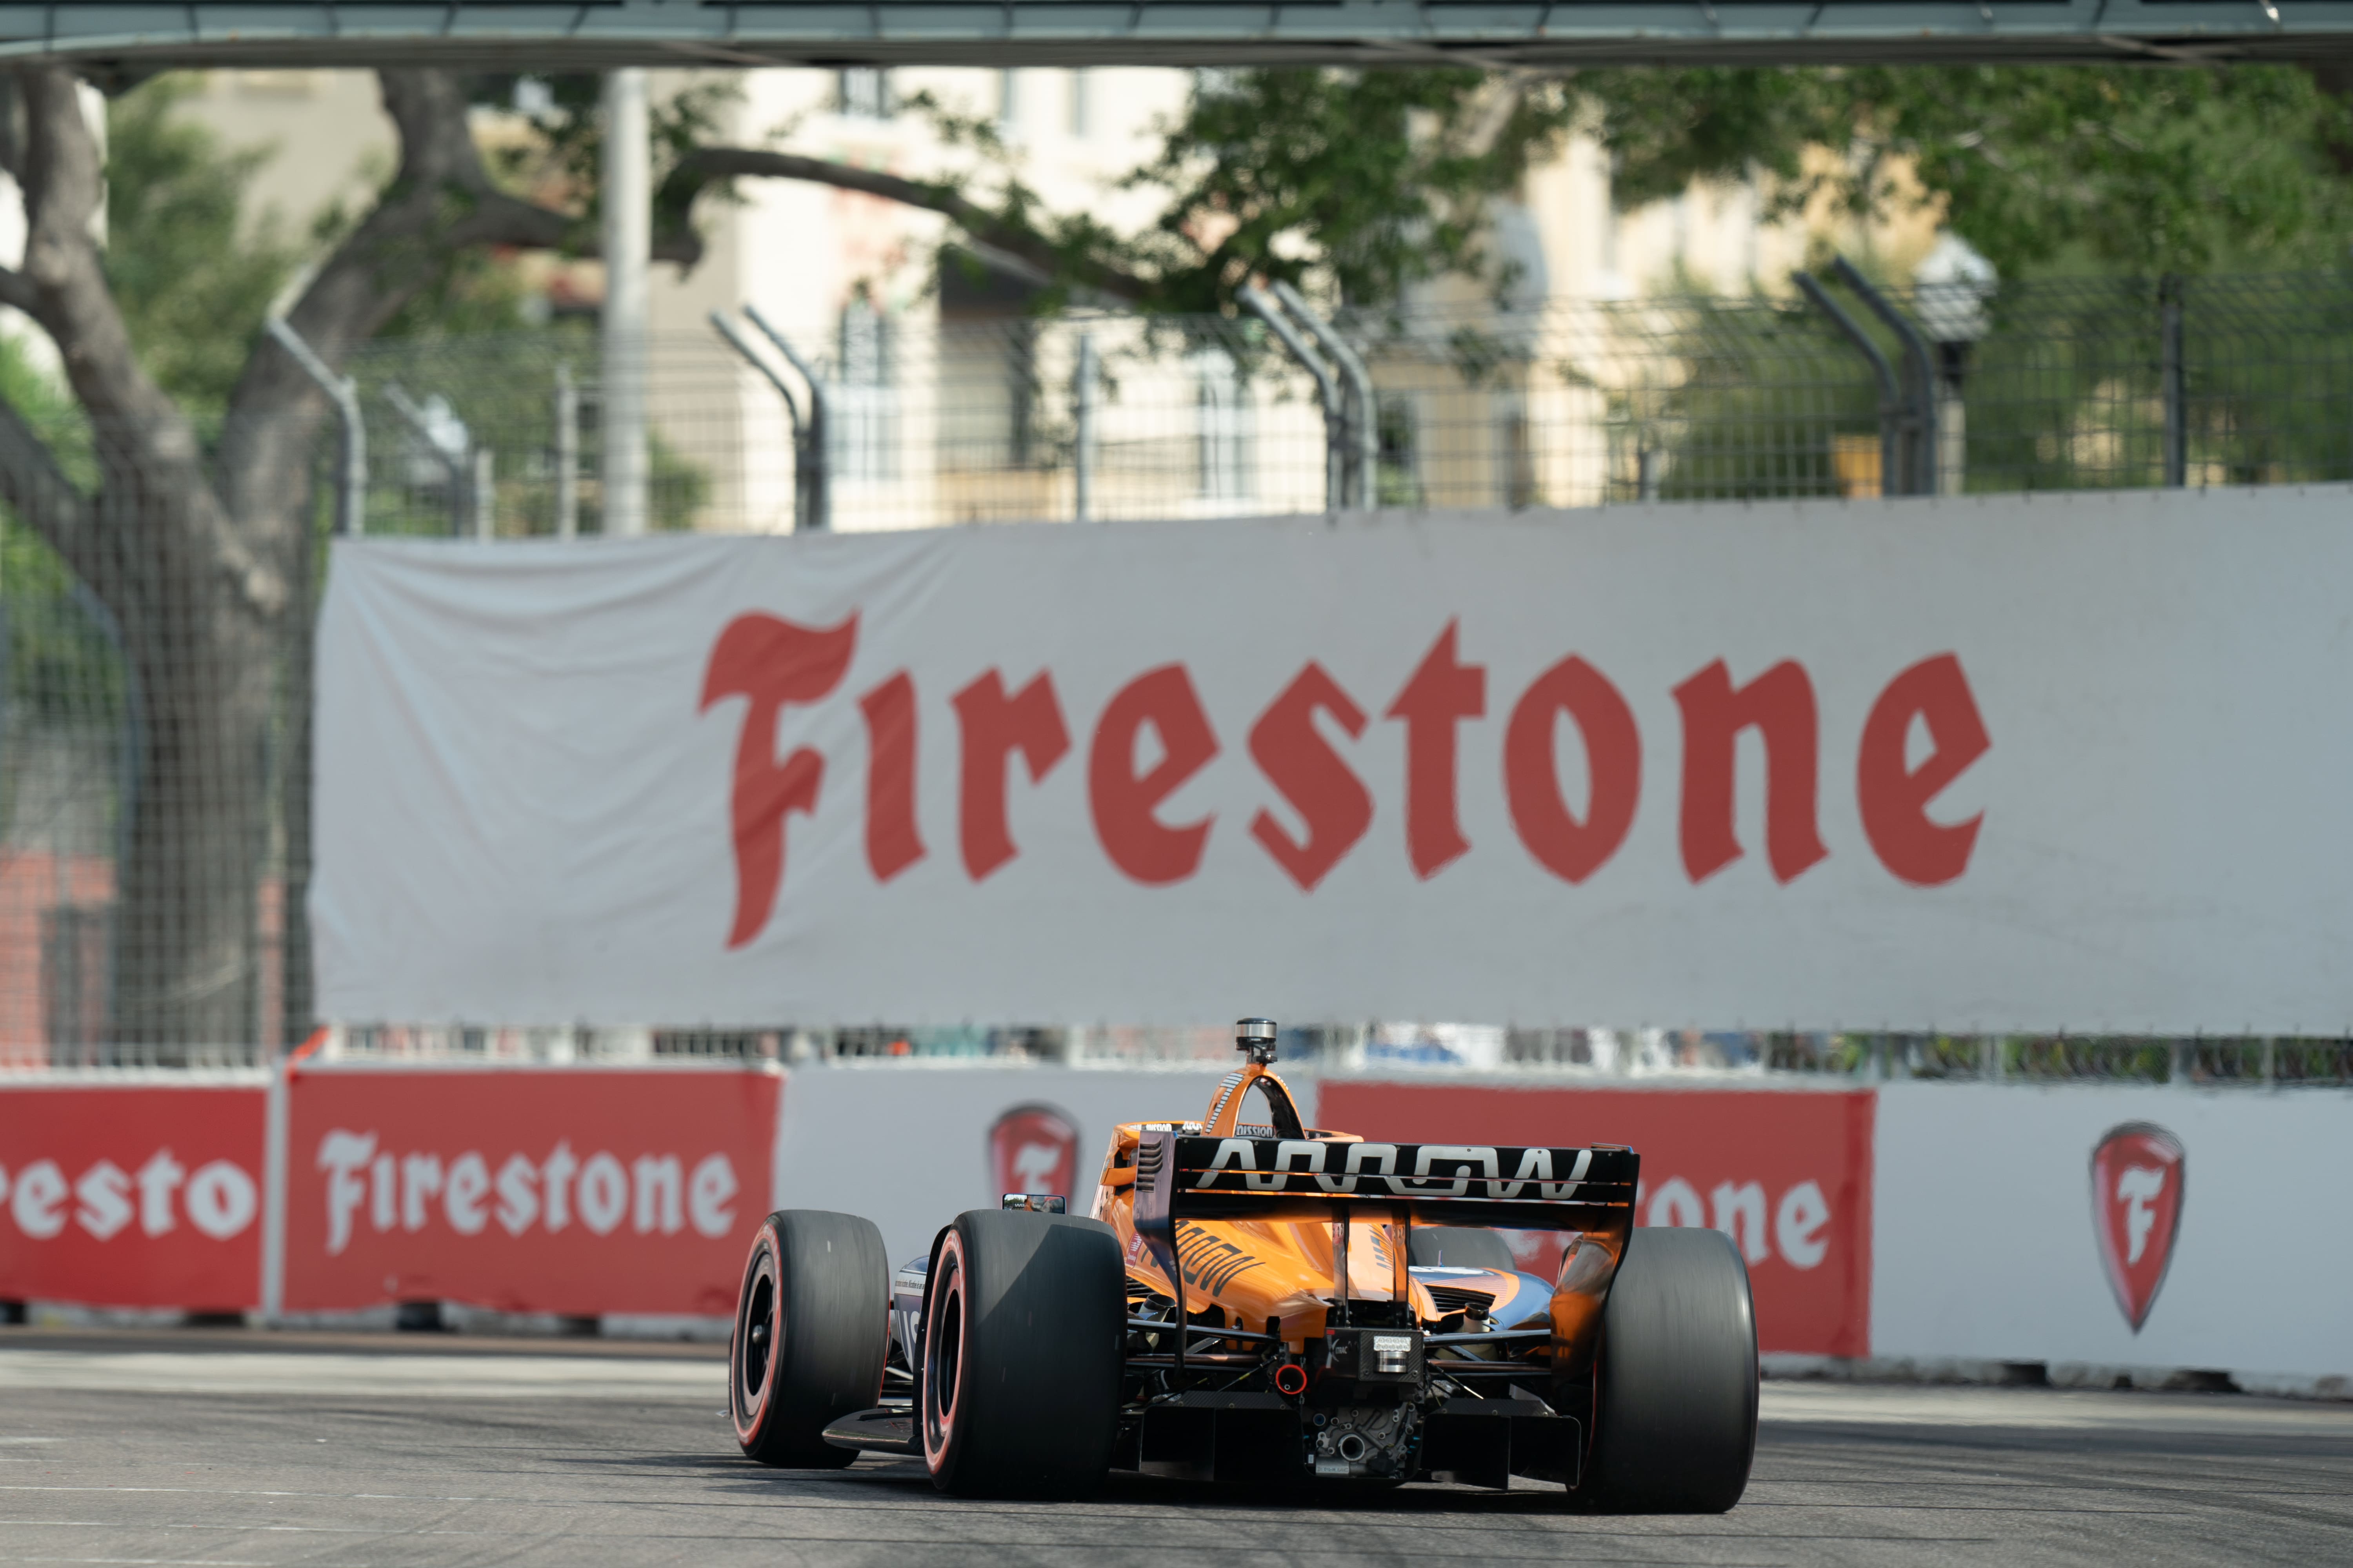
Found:
[[[273,216],[240,221],[268,150],[224,150],[176,118],[188,92],[165,75],[108,106],[106,280],[139,362],[202,414],[226,404],[299,247]]]

